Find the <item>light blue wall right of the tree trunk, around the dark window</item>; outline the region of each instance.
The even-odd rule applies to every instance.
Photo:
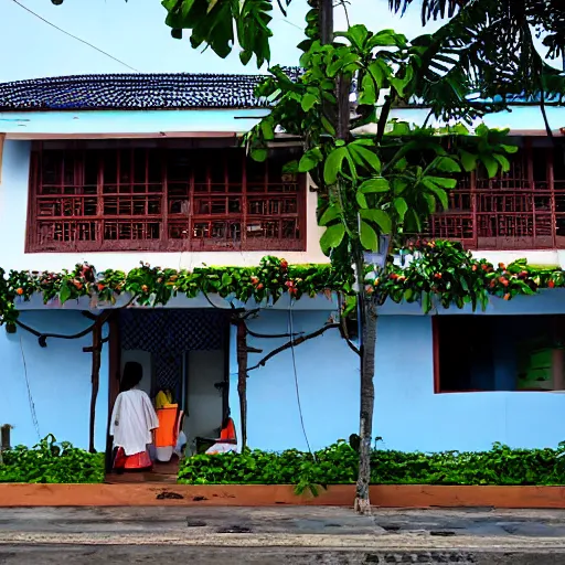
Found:
[[[391,449],[437,451],[556,446],[565,439],[565,395],[434,394],[431,319],[379,322],[374,433]]]

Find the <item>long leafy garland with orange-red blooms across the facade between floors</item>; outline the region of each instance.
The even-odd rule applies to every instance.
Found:
[[[425,312],[438,306],[466,303],[486,307],[489,296],[510,300],[516,295],[534,295],[539,288],[565,286],[562,269],[534,268],[525,259],[508,266],[493,266],[476,259],[460,244],[446,241],[416,241],[403,253],[413,255],[412,263],[402,267],[390,265],[386,275],[365,280],[367,294],[379,292],[382,300],[420,301]],[[284,294],[302,296],[329,295],[339,291],[353,297],[352,269],[334,269],[330,265],[289,265],[285,259],[264,257],[257,267],[199,267],[192,271],[162,269],[141,264],[124,273],[108,269],[96,271],[88,264],[76,265],[61,273],[15,271],[6,276],[0,269],[0,323],[17,317],[14,299],[28,300],[39,292],[45,302],[61,303],[84,296],[95,302],[115,302],[122,294],[137,297],[141,306],[166,305],[177,294],[193,298],[201,292],[235,298],[246,302],[254,298],[278,300]]]

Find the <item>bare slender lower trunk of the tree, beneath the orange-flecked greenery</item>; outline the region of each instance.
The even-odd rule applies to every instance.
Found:
[[[373,411],[375,388],[376,345],[376,300],[373,297],[360,295],[362,316],[361,347],[361,408],[359,417],[359,476],[355,497],[355,510],[361,514],[371,513],[369,484],[371,481],[371,444],[373,438]]]

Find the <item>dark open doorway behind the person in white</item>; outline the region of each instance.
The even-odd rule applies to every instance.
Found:
[[[184,418],[182,455],[195,452],[196,438],[220,437],[230,411],[230,317],[218,310],[128,309],[117,313],[114,326],[110,375],[119,379],[124,366],[136,361],[143,369],[139,388],[154,403],[160,391],[169,391]],[[118,386],[110,386],[109,411]],[[111,450],[111,445],[108,446]],[[108,458],[108,462],[111,458]],[[179,457],[156,461],[150,477],[177,476]],[[110,470],[110,469],[108,469]],[[122,480],[126,480],[126,477]]]

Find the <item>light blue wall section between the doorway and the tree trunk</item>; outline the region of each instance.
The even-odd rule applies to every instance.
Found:
[[[321,328],[328,317],[329,312],[296,311],[292,315],[294,331],[310,333]],[[248,327],[259,333],[288,332],[288,313],[264,310],[259,318],[248,321]],[[232,337],[230,405],[238,427],[239,401],[234,333]],[[249,366],[286,342],[288,338],[249,337],[249,345],[264,350],[260,354],[249,354]],[[311,448],[320,449],[339,438],[349,438],[359,426],[358,356],[348,349],[334,329],[296,347],[295,353],[302,415]],[[279,353],[264,367],[249,372],[247,404],[247,436],[250,447],[274,450],[289,447],[307,449],[300,424],[290,350]]]

